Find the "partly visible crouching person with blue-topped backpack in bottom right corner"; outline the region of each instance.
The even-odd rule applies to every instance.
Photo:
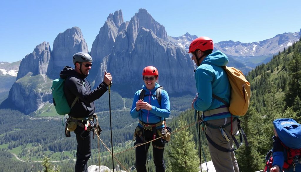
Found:
[[[301,124],[290,118],[280,118],[274,120],[273,125],[272,167],[266,167],[265,171],[301,171]]]

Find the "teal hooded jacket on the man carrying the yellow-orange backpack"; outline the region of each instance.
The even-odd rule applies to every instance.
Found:
[[[223,106],[224,103],[213,98],[212,94],[219,96],[227,103],[230,102],[231,85],[227,73],[222,68],[222,66],[225,66],[228,62],[228,57],[224,53],[216,51],[205,57],[200,66],[197,67],[194,75],[198,97],[194,102],[194,109],[198,111],[208,111]],[[208,116],[204,118],[204,121],[225,117],[231,117],[231,113]]]

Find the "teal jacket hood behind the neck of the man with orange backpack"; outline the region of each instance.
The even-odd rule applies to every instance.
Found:
[[[226,64],[228,64],[228,62],[229,59],[227,55],[218,50],[205,57],[201,64],[207,63],[214,64],[216,66],[225,66]]]

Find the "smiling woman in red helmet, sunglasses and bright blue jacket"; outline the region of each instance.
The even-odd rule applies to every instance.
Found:
[[[165,90],[159,88],[157,83],[159,73],[156,67],[147,66],[142,72],[144,84],[141,90],[134,95],[131,109],[132,118],[138,118],[139,123],[135,130],[135,145],[141,145],[145,142],[160,137],[158,133],[165,133],[165,118],[169,117],[170,105],[169,97]],[[161,102],[158,102],[157,89],[161,89]],[[140,98],[140,93],[145,92],[144,97]],[[165,164],[163,161],[164,139],[157,139],[152,142],[154,164],[156,172],[164,172]],[[146,158],[150,143],[136,147],[136,169],[137,172],[146,172]]]

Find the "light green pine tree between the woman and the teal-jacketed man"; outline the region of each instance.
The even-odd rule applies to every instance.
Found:
[[[179,120],[179,128],[187,125],[182,118]],[[177,130],[177,129],[175,129]],[[172,172],[198,172],[199,157],[195,147],[193,136],[189,133],[189,129],[183,129],[173,135],[170,142],[170,169]]]

